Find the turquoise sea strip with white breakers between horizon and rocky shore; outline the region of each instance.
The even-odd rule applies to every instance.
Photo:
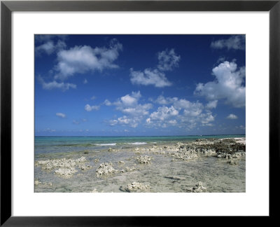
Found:
[[[245,135],[189,135],[189,136],[36,136],[35,154],[64,153],[87,149],[106,149],[107,147],[147,146],[149,144],[174,144],[195,139],[224,139],[245,137]]]

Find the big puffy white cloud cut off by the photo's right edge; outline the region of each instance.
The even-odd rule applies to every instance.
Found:
[[[235,62],[225,61],[213,70],[215,80],[199,83],[195,94],[206,97],[209,101],[224,99],[226,104],[235,107],[245,106],[245,67],[237,68]]]

